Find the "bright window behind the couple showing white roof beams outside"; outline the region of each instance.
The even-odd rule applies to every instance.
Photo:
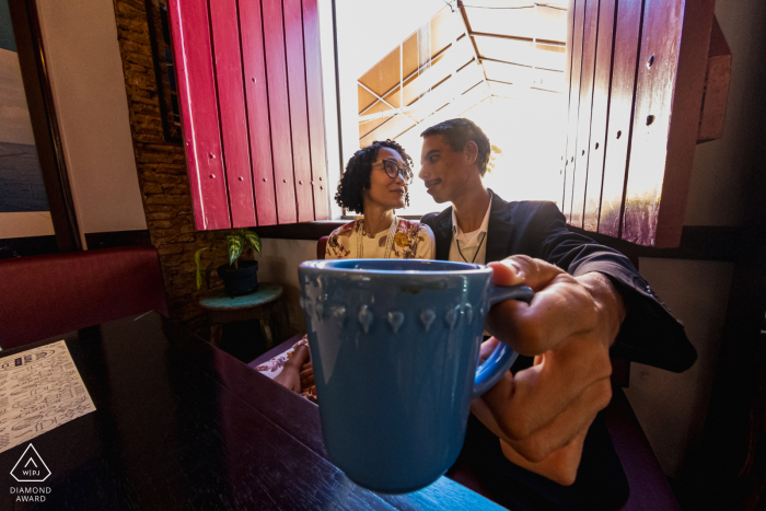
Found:
[[[567,4],[335,0],[341,163],[390,138],[410,154],[417,175],[420,132],[466,117],[497,149],[488,187],[506,200],[560,204]],[[325,63],[333,49],[323,46]],[[325,101],[327,108],[327,91]],[[398,213],[446,206],[416,178],[410,207]]]

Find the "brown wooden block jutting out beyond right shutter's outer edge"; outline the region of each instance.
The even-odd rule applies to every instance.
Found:
[[[713,18],[697,143],[723,137],[723,120],[727,113],[730,79],[731,49],[729,49],[727,38],[721,32],[718,19]]]

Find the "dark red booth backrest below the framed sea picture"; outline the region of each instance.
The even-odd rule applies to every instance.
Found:
[[[3,349],[151,310],[169,315],[153,246],[0,259]]]

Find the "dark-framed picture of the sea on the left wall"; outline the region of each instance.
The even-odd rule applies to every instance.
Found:
[[[0,258],[82,248],[37,4],[0,0]]]

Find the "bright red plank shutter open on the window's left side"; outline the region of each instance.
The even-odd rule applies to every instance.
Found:
[[[316,0],[170,0],[197,229],[326,220]]]

